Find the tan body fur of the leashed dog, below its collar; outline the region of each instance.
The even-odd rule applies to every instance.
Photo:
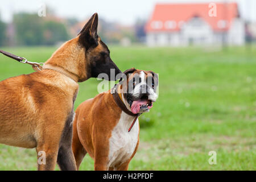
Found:
[[[63,49],[71,51],[70,42]],[[63,49],[57,50],[47,63],[55,63],[55,58],[65,53]],[[78,89],[71,78],[49,69],[1,81],[0,143],[45,151],[46,165],[38,168],[54,169]]]

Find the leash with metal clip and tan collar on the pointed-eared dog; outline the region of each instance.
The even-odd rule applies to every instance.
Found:
[[[42,69],[52,69],[54,71],[57,71],[59,73],[62,73],[63,75],[72,78],[72,80],[78,82],[79,81],[79,76],[75,75],[74,73],[71,73],[69,71],[66,71],[65,69],[55,66],[55,65],[50,65],[50,64],[44,64],[44,63],[36,63],[36,62],[31,62],[28,61],[26,58],[24,57],[20,57],[20,56],[16,56],[10,52],[7,51],[3,51],[0,50],[0,52],[5,55],[8,56],[16,61],[19,61],[19,63],[24,63],[24,64],[30,64],[32,65],[32,68],[34,69],[34,71],[41,71]]]

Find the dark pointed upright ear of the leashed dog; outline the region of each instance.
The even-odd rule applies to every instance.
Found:
[[[86,48],[98,45],[98,14],[94,13],[79,32],[79,42]]]

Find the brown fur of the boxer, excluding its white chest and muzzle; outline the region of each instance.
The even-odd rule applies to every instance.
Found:
[[[133,80],[135,74],[139,74],[142,70],[129,69],[123,72],[125,75],[130,73],[127,81],[119,85],[117,92],[122,100],[123,90],[127,89],[127,84]],[[152,71],[143,71],[148,75],[155,74]],[[96,97],[82,102],[76,109],[75,119],[73,121],[73,139],[72,149],[76,159],[77,169],[79,169],[82,159],[85,154],[89,154],[94,159],[95,170],[112,170],[108,168],[109,156],[109,139],[112,136],[112,131],[117,125],[122,110],[115,103],[110,90],[108,92],[100,93]],[[134,118],[134,117],[131,117]],[[139,137],[137,146],[131,157],[123,161],[123,163],[115,166],[117,170],[127,170],[129,163],[135,153],[137,152],[139,144]]]

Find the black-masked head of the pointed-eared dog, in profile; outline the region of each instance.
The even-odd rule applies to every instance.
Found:
[[[110,58],[110,51],[98,36],[97,28],[98,14],[95,13],[80,31],[79,43],[85,48],[88,77],[98,77],[100,73],[106,73],[110,80],[110,69],[114,69],[115,76],[122,72]]]

